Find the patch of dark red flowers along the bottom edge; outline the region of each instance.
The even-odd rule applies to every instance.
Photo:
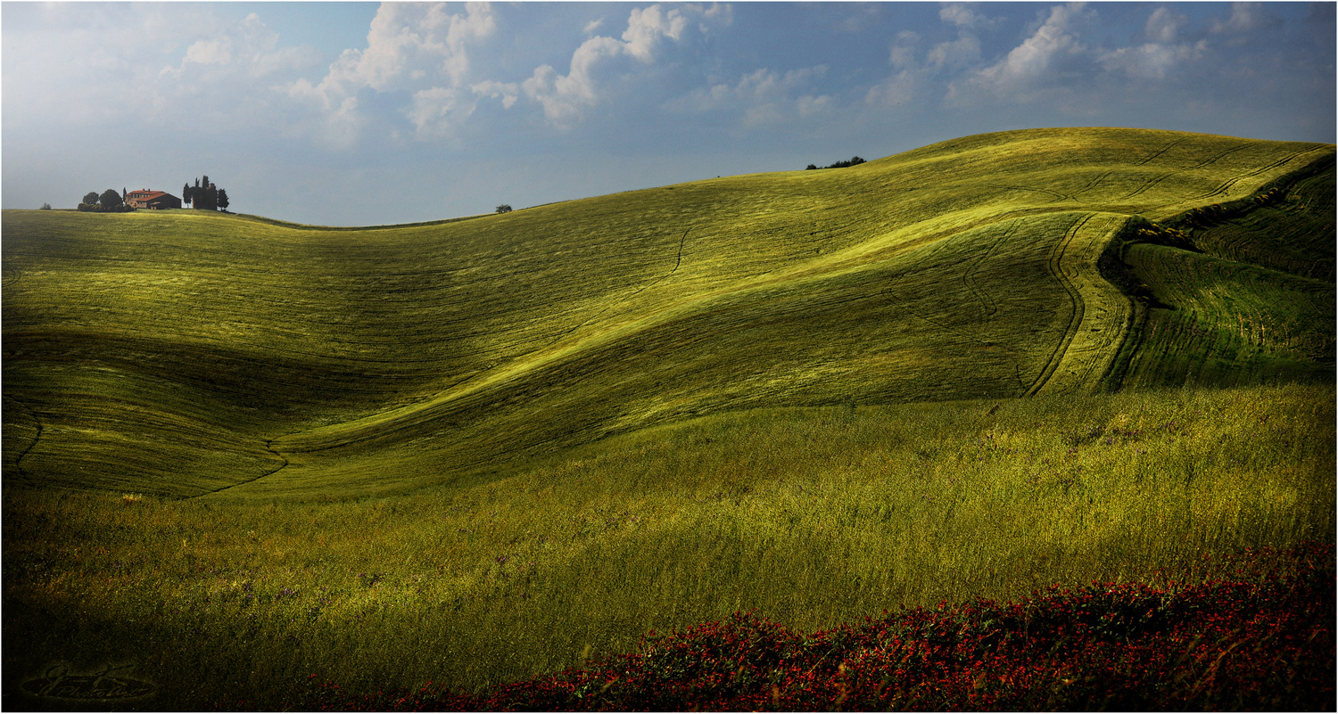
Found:
[[[1254,551],[1235,576],[1156,588],[1093,583],[1012,604],[884,612],[799,635],[736,612],[586,669],[478,695],[428,686],[324,710],[1333,710],[1334,547]]]

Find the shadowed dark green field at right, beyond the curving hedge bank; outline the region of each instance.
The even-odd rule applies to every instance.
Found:
[[[1331,158],[1252,198],[1136,229],[1108,270],[1139,295],[1112,385],[1333,381]]]

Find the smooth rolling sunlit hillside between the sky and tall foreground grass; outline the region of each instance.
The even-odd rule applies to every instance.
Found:
[[[347,495],[724,410],[1159,374],[1171,368],[1145,368],[1129,340],[1152,334],[1148,309],[1097,273],[1112,237],[1133,217],[1290,187],[1326,158],[1331,182],[1333,154],[1037,130],[403,227],[5,211],[5,480]],[[1260,209],[1327,210],[1315,245],[1331,245],[1331,203]],[[1145,250],[1121,253],[1139,277],[1160,270]],[[1184,265],[1157,273],[1161,304],[1199,300],[1203,275],[1224,274]],[[1331,271],[1305,277],[1331,294]],[[1309,285],[1260,287],[1258,324],[1274,329],[1276,290]],[[1286,320],[1327,314],[1331,345],[1331,302]],[[1222,380],[1327,369],[1309,352],[1284,373],[1232,360]]]

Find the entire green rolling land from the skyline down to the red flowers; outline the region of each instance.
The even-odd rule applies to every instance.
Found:
[[[4,211],[5,690],[479,687],[1331,542],[1334,154],[1032,130],[407,226]]]

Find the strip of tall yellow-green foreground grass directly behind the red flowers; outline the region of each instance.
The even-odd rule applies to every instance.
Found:
[[[756,409],[330,503],[7,488],[5,691],[55,662],[123,665],[157,687],[138,706],[282,709],[310,674],[474,690],[733,610],[812,631],[1050,583],[1203,582],[1211,556],[1331,538],[1334,402],[1291,385]]]

